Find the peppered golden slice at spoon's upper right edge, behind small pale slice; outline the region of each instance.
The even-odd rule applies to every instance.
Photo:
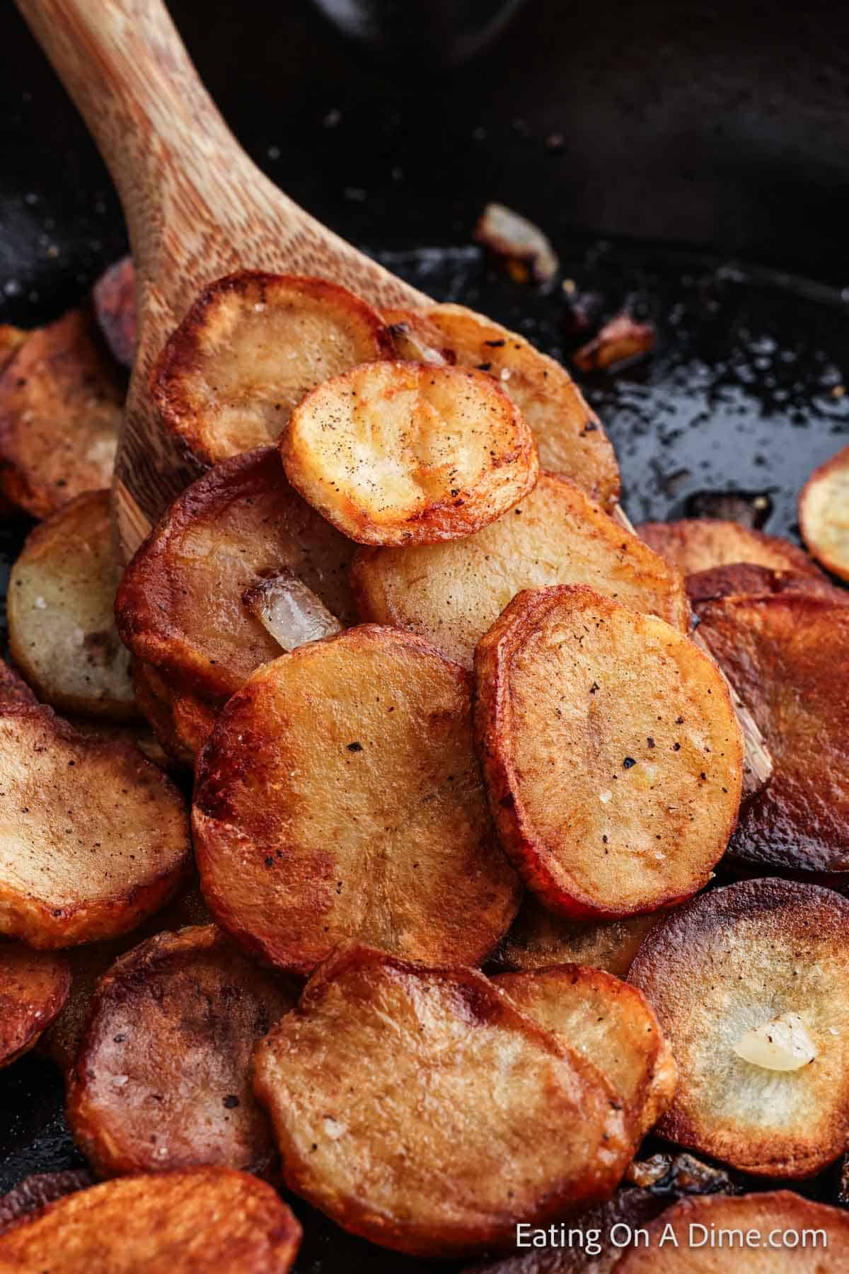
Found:
[[[426,322],[461,367],[486,372],[516,403],[537,440],[540,464],[572,478],[608,508],[619,499],[619,465],[601,420],[569,372],[523,336],[465,306],[437,306]]]

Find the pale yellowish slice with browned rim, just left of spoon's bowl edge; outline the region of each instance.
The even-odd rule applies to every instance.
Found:
[[[118,578],[108,490],[78,496],[31,531],[11,568],[11,656],[39,698],[62,712],[137,716],[130,654],[115,627]]]

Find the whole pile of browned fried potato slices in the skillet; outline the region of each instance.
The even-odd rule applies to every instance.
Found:
[[[125,564],[132,283],[0,329],[0,1065],[52,1057],[90,1170],[0,1199],[0,1269],[283,1271],[309,1209],[491,1274],[728,1268],[517,1249],[560,1224],[849,1265],[782,1189],[849,1142],[849,461],[812,555],[638,534],[523,338],[243,271],[154,367],[206,473]]]

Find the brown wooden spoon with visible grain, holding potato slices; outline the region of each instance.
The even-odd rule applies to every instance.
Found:
[[[326,229],[260,172],[201,84],[160,0],[17,0],[118,190],[136,264],[139,353],[115,475],[125,555],[202,466],[148,381],[197,293],[237,269],[314,274],[377,306],[423,293]]]

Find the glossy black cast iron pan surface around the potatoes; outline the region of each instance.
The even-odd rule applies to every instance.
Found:
[[[654,322],[650,357],[612,375],[582,377],[616,446],[624,503],[634,521],[717,513],[717,496],[732,493],[743,497],[734,516],[797,538],[802,482],[849,441],[849,394],[843,394],[849,383],[849,293],[841,290],[849,271],[838,256],[849,182],[835,171],[838,161],[826,158],[821,131],[827,120],[834,140],[845,124],[849,76],[839,89],[832,78],[840,42],[831,38],[834,31],[824,33],[813,23],[811,6],[804,14],[770,6],[769,22],[757,5],[734,5],[733,22],[732,6],[724,18],[722,5],[710,14],[696,9],[684,31],[667,29],[664,6],[649,4],[634,31],[639,6],[614,4],[605,33],[616,28],[630,34],[630,46],[628,39],[611,45],[580,13],[566,31],[549,11],[559,8],[531,0],[500,42],[467,70],[439,79],[420,71],[410,87],[397,68],[377,70],[342,45],[298,0],[286,14],[286,38],[281,32],[276,46],[261,42],[253,61],[239,64],[244,78],[237,92],[229,59],[238,62],[251,25],[280,27],[279,6],[246,0],[238,13],[233,6],[210,19],[205,5],[172,4],[201,74],[255,158],[311,211],[434,298],[490,313],[563,359],[622,306]],[[745,75],[733,57],[723,62],[722,83],[714,76],[705,85],[695,69],[708,54],[718,57],[723,41],[737,47],[741,31],[765,38],[759,46],[761,78],[747,97],[736,98],[742,89],[734,75],[741,84]],[[634,41],[645,51],[652,39],[663,46],[668,83],[635,78]],[[816,74],[797,59],[796,79],[788,80],[784,73],[799,42],[812,48],[817,41]],[[125,251],[123,227],[81,124],[9,10],[0,15],[0,48],[13,52],[0,83],[0,321],[36,326],[79,302],[101,269]],[[542,66],[540,48],[546,51]],[[670,61],[672,54],[678,61]],[[771,111],[760,101],[765,84],[771,84]],[[546,130],[565,127],[566,106],[578,90],[584,104],[603,98],[605,111],[594,125],[579,112],[561,145]],[[694,163],[704,159],[705,93],[722,99],[723,111],[731,112],[734,101],[738,110],[713,121],[722,124],[712,134],[717,163],[687,181],[675,157],[689,132]],[[799,110],[782,132],[792,113],[783,108],[793,94]],[[684,116],[676,115],[680,102],[686,103]],[[634,112],[642,126],[626,155],[622,118]],[[681,118],[680,145],[670,149]],[[783,167],[774,162],[779,135]],[[579,189],[574,180],[591,136],[600,153],[607,148],[607,176],[596,172],[589,187],[592,194],[603,186],[605,203],[593,204],[586,183]],[[635,155],[633,147],[650,147],[650,138],[668,153],[661,145],[650,155]],[[741,182],[729,177],[732,155]],[[647,190],[636,172],[640,162],[661,175],[654,182],[659,190]],[[470,228],[490,197],[536,217],[560,252],[563,279],[573,280],[569,294],[559,283],[549,293],[516,284],[470,245]],[[588,227],[619,237],[600,241],[586,233]],[[647,247],[624,233],[675,243],[710,241],[714,254]],[[421,246],[428,243],[434,246]],[[766,265],[741,264],[741,256]],[[796,273],[782,273],[776,261]],[[0,526],[4,592],[28,525]],[[32,1172],[80,1163],[55,1068],[29,1055],[0,1071],[0,1192]],[[832,1173],[803,1189],[832,1198]],[[293,1205],[305,1228],[299,1271],[426,1274],[454,1268],[383,1254],[342,1235],[299,1200]]]

